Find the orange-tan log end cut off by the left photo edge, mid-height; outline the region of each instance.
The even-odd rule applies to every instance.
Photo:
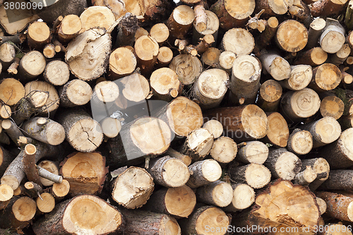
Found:
[[[22,83],[14,78],[5,78],[0,80],[0,100],[9,106],[25,96],[25,89]]]

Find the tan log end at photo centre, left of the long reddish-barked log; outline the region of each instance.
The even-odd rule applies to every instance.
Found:
[[[165,121],[176,135],[184,137],[203,125],[201,108],[186,97],[177,97],[169,102],[157,117]]]

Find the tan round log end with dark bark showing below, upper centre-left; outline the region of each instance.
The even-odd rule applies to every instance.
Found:
[[[134,45],[136,59],[143,74],[152,71],[157,62],[159,48],[158,42],[153,37],[143,35],[136,40]]]

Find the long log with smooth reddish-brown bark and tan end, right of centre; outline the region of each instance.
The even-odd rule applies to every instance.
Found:
[[[253,140],[263,138],[267,133],[267,116],[254,104],[212,109],[205,116],[220,121],[231,138]]]

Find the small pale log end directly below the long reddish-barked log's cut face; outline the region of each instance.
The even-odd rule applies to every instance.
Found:
[[[268,147],[260,141],[249,141],[246,145],[239,147],[236,160],[246,164],[263,164],[268,157]]]

